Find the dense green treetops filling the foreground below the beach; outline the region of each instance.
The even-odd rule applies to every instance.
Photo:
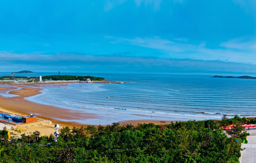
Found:
[[[153,123],[136,126],[119,122],[103,127],[60,129],[60,137],[39,136],[36,131],[8,142],[0,133],[0,161],[3,163],[91,162],[91,163],[238,163],[240,144],[244,137],[228,138],[221,124],[255,121],[255,118],[221,121],[187,121],[160,125]],[[210,127],[209,127],[210,125]],[[245,135],[246,135],[245,131]],[[249,135],[249,134],[247,134]],[[33,143],[28,145],[26,143]],[[41,145],[51,143],[50,145]]]

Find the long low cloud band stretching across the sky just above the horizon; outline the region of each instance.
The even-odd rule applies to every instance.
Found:
[[[128,54],[128,55],[127,55]],[[36,69],[37,72],[51,71],[53,69],[67,69],[69,71],[83,72],[85,69],[93,72],[102,72],[111,67],[111,72],[151,72],[151,73],[244,73],[256,74],[255,64],[237,63],[221,60],[175,59],[159,57],[136,57],[124,54],[97,55],[90,53],[54,53],[45,55],[41,53],[16,54],[6,51],[0,52],[0,68],[20,70]],[[8,66],[10,65],[10,66]]]

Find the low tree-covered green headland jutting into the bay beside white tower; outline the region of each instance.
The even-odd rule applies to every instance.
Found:
[[[73,76],[73,75],[49,75],[49,76],[42,76],[42,79],[52,79],[52,80],[86,80],[90,78],[94,81],[102,81],[105,80],[103,77],[94,77],[94,76]]]

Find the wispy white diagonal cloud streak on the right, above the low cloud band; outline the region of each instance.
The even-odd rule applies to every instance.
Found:
[[[248,43],[244,45],[236,45],[233,42],[222,43],[217,48],[208,48],[206,42],[201,42],[198,44],[193,44],[184,41],[170,41],[167,39],[162,39],[160,37],[152,38],[116,38],[107,36],[106,39],[112,39],[111,43],[125,43],[140,47],[146,47],[151,49],[158,49],[163,51],[165,55],[161,57],[165,58],[190,58],[190,59],[200,59],[200,60],[229,60],[232,62],[243,62],[243,63],[253,63],[256,64],[256,56],[246,50],[236,50],[231,47],[243,48]],[[176,39],[173,39],[176,40]],[[182,40],[182,39],[178,39]],[[253,48],[253,44],[251,48]],[[222,48],[223,46],[230,48]],[[159,56],[160,57],[160,56]]]

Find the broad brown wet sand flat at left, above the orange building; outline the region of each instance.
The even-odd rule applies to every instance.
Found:
[[[10,90],[10,87],[0,87],[1,90]],[[17,89],[17,88],[13,88]],[[79,118],[94,118],[97,115],[84,113],[80,111],[71,111],[65,108],[59,108],[49,105],[43,105],[34,103],[28,100],[25,100],[24,97],[34,96],[41,94],[40,90],[37,88],[22,88],[21,90],[12,90],[9,94],[19,95],[17,97],[1,97],[0,98],[0,108],[3,111],[7,111],[9,113],[19,114],[19,115],[30,115],[32,113],[38,114],[38,118],[42,118],[45,120],[51,120],[53,123],[58,123],[62,125],[69,126],[81,126],[81,124],[69,122],[68,120],[72,120],[75,117]],[[61,119],[61,120],[56,120]]]

